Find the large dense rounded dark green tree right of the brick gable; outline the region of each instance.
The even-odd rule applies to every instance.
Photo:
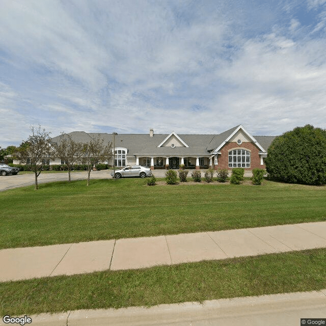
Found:
[[[265,159],[270,178],[290,183],[326,183],[326,130],[307,124],[276,137]]]

